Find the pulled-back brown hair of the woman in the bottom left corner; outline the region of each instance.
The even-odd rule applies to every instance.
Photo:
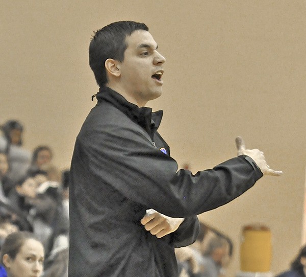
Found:
[[[0,262],[3,264],[3,256],[9,255],[12,260],[16,258],[16,255],[20,251],[21,246],[28,239],[34,239],[39,241],[33,233],[18,231],[8,235],[1,246]],[[40,242],[40,241],[39,241]]]

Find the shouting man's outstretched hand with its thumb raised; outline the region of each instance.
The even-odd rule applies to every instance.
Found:
[[[244,140],[240,136],[236,137],[236,147],[238,150],[238,156],[247,155],[251,157],[264,175],[281,176],[283,174],[283,171],[270,169],[267,165],[264,152],[258,149],[245,149]]]

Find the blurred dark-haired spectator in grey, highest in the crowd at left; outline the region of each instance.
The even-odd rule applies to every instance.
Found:
[[[16,120],[9,120],[2,126],[3,136],[0,136],[0,150],[8,155],[8,182],[4,188],[9,193],[14,183],[19,180],[30,166],[31,154],[22,148],[23,126]]]

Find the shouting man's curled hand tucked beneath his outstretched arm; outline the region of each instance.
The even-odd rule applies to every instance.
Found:
[[[153,209],[146,212],[140,222],[147,231],[159,239],[175,232],[184,221],[184,218],[165,216]]]

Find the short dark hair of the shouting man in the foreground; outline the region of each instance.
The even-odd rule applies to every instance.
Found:
[[[99,87],[105,86],[108,82],[105,61],[114,59],[122,62],[127,47],[125,38],[136,30],[149,29],[144,23],[118,21],[94,32],[89,45],[89,65]]]

